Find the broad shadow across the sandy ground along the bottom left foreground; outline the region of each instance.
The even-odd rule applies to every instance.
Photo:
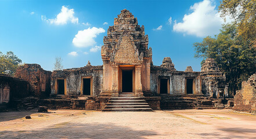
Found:
[[[89,125],[69,122],[59,123],[46,129],[0,132],[0,138],[145,138],[156,135],[154,131],[133,130],[111,123]]]

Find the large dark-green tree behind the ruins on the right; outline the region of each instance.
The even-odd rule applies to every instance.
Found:
[[[229,83],[229,96],[240,89],[241,82],[256,71],[256,51],[251,43],[237,34],[235,24],[226,24],[215,38],[207,36],[194,43],[197,58],[214,58]]]

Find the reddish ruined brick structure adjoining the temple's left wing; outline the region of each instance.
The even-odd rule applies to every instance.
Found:
[[[20,66],[15,77],[29,82],[35,97],[47,97],[51,93],[51,71],[45,71],[38,64]]]

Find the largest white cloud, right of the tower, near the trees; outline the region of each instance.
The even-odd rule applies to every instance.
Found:
[[[188,34],[199,37],[218,34],[221,24],[225,22],[219,16],[215,7],[216,5],[210,0],[194,3],[193,6],[190,6],[192,13],[185,14],[182,23],[174,21],[173,30],[175,32],[183,32],[183,35]]]

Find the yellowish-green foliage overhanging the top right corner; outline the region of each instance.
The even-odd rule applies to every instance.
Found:
[[[256,0],[222,0],[219,5],[222,17],[232,16],[238,33],[244,39],[256,40]]]

